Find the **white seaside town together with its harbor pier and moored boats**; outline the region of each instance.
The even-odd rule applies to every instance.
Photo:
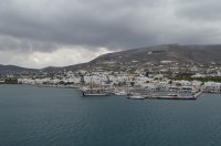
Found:
[[[103,62],[93,70],[63,70],[57,72],[40,71],[39,73],[7,74],[1,83],[17,79],[18,84],[36,85],[39,87],[71,87],[82,91],[83,96],[92,95],[126,95],[131,98],[197,98],[201,93],[220,93],[220,67],[213,62],[210,66],[200,64],[179,64],[161,61],[159,64],[131,61],[126,71],[125,64],[116,65]],[[104,70],[109,67],[110,70]],[[133,71],[129,70],[133,67]],[[188,73],[188,76],[187,76]],[[181,74],[181,77],[180,77]],[[183,77],[183,74],[186,75]],[[7,82],[8,81],[8,82]],[[11,81],[10,81],[11,82]],[[9,82],[9,83],[10,83]],[[160,92],[167,92],[159,95]],[[182,94],[191,93],[191,94]]]

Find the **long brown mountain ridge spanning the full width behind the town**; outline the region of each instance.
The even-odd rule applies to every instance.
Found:
[[[107,53],[96,59],[81,64],[69,66],[48,66],[44,69],[27,69],[17,65],[0,64],[0,73],[20,73],[20,72],[53,72],[62,70],[78,70],[88,66],[97,66],[105,62],[127,63],[137,61],[139,63],[154,62],[159,63],[164,60],[176,61],[179,63],[194,62],[207,64],[210,62],[221,63],[221,44],[162,44],[155,46],[145,46],[139,49],[130,49],[119,52]]]

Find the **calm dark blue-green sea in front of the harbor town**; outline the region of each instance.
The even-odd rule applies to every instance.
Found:
[[[134,101],[0,85],[0,146],[220,145],[221,95]]]

